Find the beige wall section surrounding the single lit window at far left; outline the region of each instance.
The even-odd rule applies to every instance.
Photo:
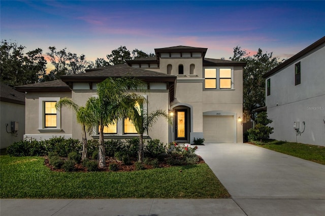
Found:
[[[72,110],[67,107],[61,109],[61,131],[60,132],[41,132],[39,131],[39,110],[40,97],[68,97],[70,92],[28,92],[25,96],[25,138],[47,139],[52,136],[71,137],[72,134]]]

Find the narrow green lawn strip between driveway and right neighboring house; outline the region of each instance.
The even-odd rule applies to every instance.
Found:
[[[295,156],[325,165],[325,147],[313,146],[297,142],[266,139],[263,142],[253,141],[256,146]]]

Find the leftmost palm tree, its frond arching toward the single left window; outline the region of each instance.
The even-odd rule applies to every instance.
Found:
[[[77,115],[77,122],[82,125],[82,160],[87,158],[87,134],[86,128],[91,128],[91,122],[89,120],[89,112],[83,106],[79,106],[71,98],[61,98],[56,102],[55,108],[59,111],[62,106],[68,106],[75,111]]]

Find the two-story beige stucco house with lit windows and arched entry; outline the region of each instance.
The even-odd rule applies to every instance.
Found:
[[[65,136],[81,139],[75,115],[53,109],[55,101],[72,98],[79,105],[96,94],[96,84],[108,77],[136,77],[147,83],[143,93],[147,112],[157,109],[173,115],[173,125],[161,118],[145,134],[164,143],[243,141],[243,75],[245,62],[205,58],[207,48],[176,46],[155,49],[155,56],[126,64],[87,69],[86,73],[62,76],[61,80],[19,86],[26,92],[25,138]],[[50,120],[51,119],[51,120]],[[132,122],[120,119],[105,130],[107,138],[137,136]],[[98,138],[98,128],[91,134]]]

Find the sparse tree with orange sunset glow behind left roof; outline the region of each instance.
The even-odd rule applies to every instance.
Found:
[[[45,81],[59,80],[60,76],[83,73],[87,67],[84,54],[78,56],[76,53],[67,51],[67,48],[57,50],[56,47],[49,47],[47,53],[54,69],[45,76]]]

